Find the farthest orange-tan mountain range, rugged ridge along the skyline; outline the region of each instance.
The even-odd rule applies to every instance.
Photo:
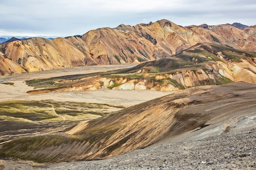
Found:
[[[245,30],[224,24],[182,27],[168,20],[101,28],[67,38],[29,38],[0,45],[4,55],[20,65],[22,73],[97,64],[140,63],[180,53],[197,43],[216,43],[256,52],[253,27]],[[7,59],[4,59],[7,60]]]

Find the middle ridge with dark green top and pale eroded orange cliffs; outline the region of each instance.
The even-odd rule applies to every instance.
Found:
[[[256,84],[256,53],[217,44],[198,43],[172,57],[144,62],[132,68],[32,79],[26,83],[35,89],[27,93],[36,94],[107,88],[177,91],[239,81]]]

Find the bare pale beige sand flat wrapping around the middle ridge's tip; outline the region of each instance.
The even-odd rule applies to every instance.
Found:
[[[161,92],[151,90],[96,90],[96,91],[73,91],[60,93],[43,93],[29,95],[26,92],[33,90],[25,84],[25,80],[56,77],[62,75],[85,74],[101,71],[129,68],[135,65],[109,65],[109,66],[86,66],[75,68],[63,68],[49,71],[37,71],[19,75],[10,75],[0,78],[0,102],[9,100],[48,100],[88,102],[100,104],[112,104],[119,106],[132,106],[141,102],[155,99],[174,92]],[[1,82],[12,82],[13,85],[2,84]]]

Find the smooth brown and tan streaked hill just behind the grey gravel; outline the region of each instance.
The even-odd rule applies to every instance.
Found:
[[[189,88],[61,133],[14,139],[0,146],[0,153],[36,162],[104,159],[173,137],[187,139],[194,130],[198,139],[229,132],[234,126],[255,126],[250,121],[255,117],[255,88],[244,82]]]

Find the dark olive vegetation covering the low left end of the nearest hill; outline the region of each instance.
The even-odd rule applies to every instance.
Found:
[[[55,148],[60,145],[71,145],[72,143],[82,142],[79,137],[74,135],[43,135],[36,137],[20,137],[16,140],[4,144],[0,151],[0,156],[16,157],[27,159],[37,163],[53,162],[63,157],[62,154],[56,155],[51,152],[40,153],[40,151]]]

